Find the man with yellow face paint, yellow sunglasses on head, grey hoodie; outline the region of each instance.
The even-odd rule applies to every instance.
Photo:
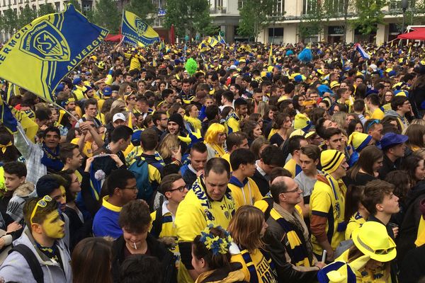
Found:
[[[71,283],[71,257],[65,246],[64,221],[60,218],[57,202],[51,197],[35,197],[23,207],[26,227],[22,236],[13,241],[14,247],[26,248],[40,264],[44,282]],[[26,258],[12,250],[0,267],[5,282],[35,282]]]

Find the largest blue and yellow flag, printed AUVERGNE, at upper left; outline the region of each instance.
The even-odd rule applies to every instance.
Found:
[[[36,18],[0,51],[0,77],[55,101],[55,89],[98,47],[108,30],[90,23],[74,6]]]

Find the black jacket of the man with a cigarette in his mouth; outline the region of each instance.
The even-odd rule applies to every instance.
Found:
[[[146,238],[147,246],[152,256],[158,258],[161,262],[162,270],[162,283],[176,283],[177,282],[177,270],[176,260],[174,259],[173,253],[171,253],[164,245],[159,242],[150,233],[147,233]],[[113,241],[112,245],[112,277],[114,283],[120,282],[120,266],[123,264],[124,258],[125,241],[123,236]]]

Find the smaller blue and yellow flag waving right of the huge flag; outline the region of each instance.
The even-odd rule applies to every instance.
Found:
[[[129,11],[123,12],[121,33],[135,42],[142,42],[144,45],[152,45],[154,42],[160,41],[158,33],[152,26]]]

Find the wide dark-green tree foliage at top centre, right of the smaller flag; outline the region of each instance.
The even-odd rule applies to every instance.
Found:
[[[191,38],[196,33],[214,35],[218,31],[212,25],[208,0],[168,0],[164,22],[166,28],[174,25],[179,37],[188,35]]]

